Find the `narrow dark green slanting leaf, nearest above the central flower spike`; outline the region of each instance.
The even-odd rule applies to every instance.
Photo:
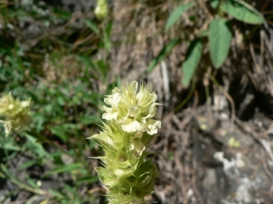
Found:
[[[163,47],[163,49],[158,53],[157,57],[149,64],[147,71],[151,72],[157,66],[157,63],[160,63],[168,53],[172,51],[172,49],[179,43],[178,39],[173,39],[169,44]]]

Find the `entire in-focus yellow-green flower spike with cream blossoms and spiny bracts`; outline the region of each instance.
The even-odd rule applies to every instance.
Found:
[[[104,168],[96,171],[108,189],[111,204],[144,203],[154,188],[157,168],[145,151],[161,121],[152,119],[157,112],[157,94],[133,82],[115,88],[102,107],[106,120],[95,139],[105,151],[100,157]]]

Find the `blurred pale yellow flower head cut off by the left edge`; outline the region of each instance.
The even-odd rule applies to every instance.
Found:
[[[18,130],[30,121],[30,99],[27,101],[16,100],[11,92],[3,94],[0,98],[0,115],[5,117],[5,135]]]

